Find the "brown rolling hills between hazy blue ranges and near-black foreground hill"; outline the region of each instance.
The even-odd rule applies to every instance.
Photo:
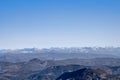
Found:
[[[120,66],[118,62],[119,59],[110,58],[56,61],[43,61],[35,58],[28,62],[0,62],[0,80],[55,80],[66,72],[74,72],[83,68],[89,68],[91,71],[93,70],[93,72],[97,68],[102,69],[105,74],[109,73],[109,77],[107,78],[117,80],[117,77],[114,76],[120,76]],[[98,70],[98,73],[99,71],[100,70]]]

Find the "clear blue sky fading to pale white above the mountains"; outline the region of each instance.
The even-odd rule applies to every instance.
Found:
[[[0,0],[0,49],[120,46],[120,0]]]

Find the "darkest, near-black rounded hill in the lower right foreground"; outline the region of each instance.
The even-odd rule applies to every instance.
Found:
[[[83,68],[74,72],[64,73],[56,80],[120,80],[120,78],[110,76],[101,69]]]

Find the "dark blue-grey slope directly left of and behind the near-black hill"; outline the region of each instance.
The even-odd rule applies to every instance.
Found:
[[[39,73],[32,74],[28,77],[29,80],[55,80],[64,72],[72,72],[85,66],[80,65],[60,65],[60,66],[51,66],[45,70],[42,70]]]

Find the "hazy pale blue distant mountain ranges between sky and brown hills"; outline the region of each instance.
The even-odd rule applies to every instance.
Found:
[[[33,58],[40,60],[120,58],[120,47],[83,47],[83,48],[25,48],[16,50],[0,50],[0,61],[23,62]]]

